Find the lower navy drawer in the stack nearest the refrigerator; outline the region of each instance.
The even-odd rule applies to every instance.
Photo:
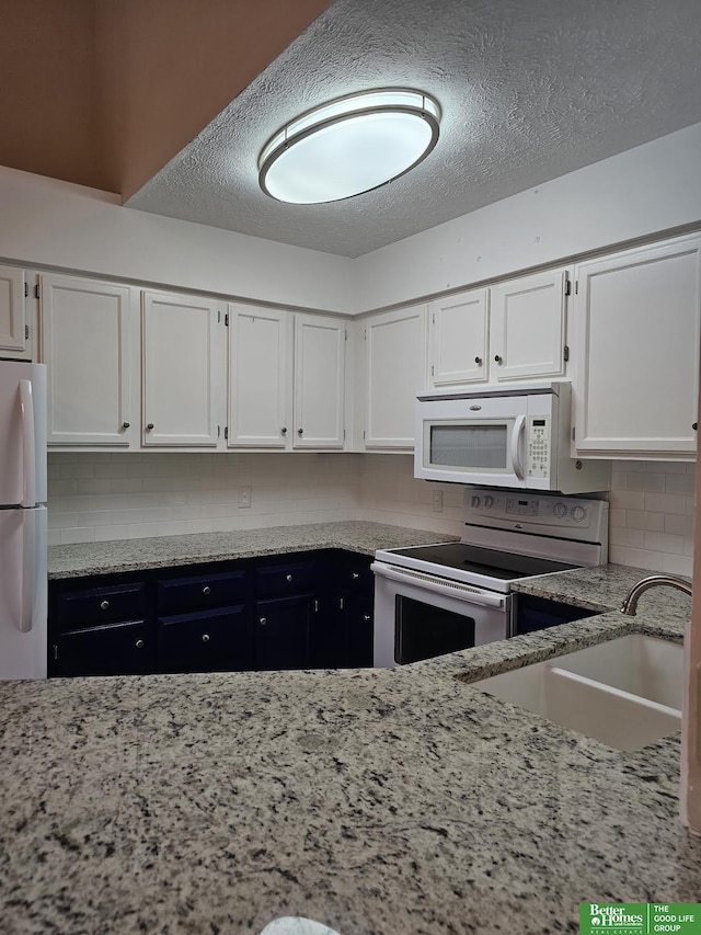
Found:
[[[143,620],[59,634],[49,646],[50,674],[142,675],[153,671],[154,640]]]

